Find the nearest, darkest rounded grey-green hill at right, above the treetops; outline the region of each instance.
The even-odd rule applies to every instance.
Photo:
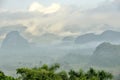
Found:
[[[120,66],[120,45],[102,43],[96,47],[90,64],[97,66]]]

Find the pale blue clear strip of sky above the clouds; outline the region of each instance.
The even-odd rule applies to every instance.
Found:
[[[6,9],[27,9],[33,2],[39,2],[43,5],[59,3],[61,5],[75,5],[82,9],[96,7],[105,0],[0,0],[0,7]]]

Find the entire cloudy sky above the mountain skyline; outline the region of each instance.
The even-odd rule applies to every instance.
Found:
[[[0,39],[10,30],[28,39],[119,31],[119,21],[120,0],[0,0]]]

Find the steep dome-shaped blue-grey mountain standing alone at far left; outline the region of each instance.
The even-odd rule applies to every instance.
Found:
[[[24,49],[30,47],[28,41],[24,39],[18,31],[9,32],[2,42],[2,49]]]

